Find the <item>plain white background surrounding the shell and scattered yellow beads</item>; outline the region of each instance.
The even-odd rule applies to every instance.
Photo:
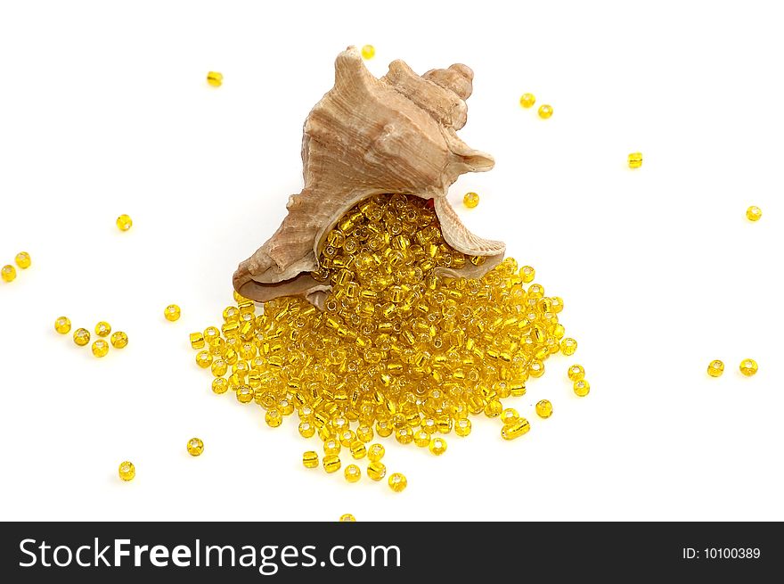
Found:
[[[0,4],[0,264],[33,259],[0,283],[0,517],[784,519],[773,5]],[[302,122],[335,56],[365,43],[378,76],[397,58],[473,68],[461,136],[497,164],[450,199],[564,298],[580,343],[507,400],[531,419],[522,439],[477,418],[439,458],[385,440],[388,471],[409,480],[399,495],[303,468],[316,443],[296,416],[273,430],[260,408],[213,395],[188,344],[219,324],[236,264],[299,191]],[[207,86],[208,70],[225,85]],[[522,110],[524,92],[552,118]],[[476,210],[461,207],[468,190]],[[124,212],[135,223],[120,233]],[[106,319],[130,344],[95,359],[54,333],[61,315]],[[588,398],[572,394],[572,362]],[[543,397],[547,421],[533,413]]]

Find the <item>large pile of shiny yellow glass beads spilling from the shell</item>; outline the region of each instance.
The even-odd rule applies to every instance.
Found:
[[[501,417],[502,437],[513,440],[530,425],[502,399],[524,395],[547,358],[572,355],[577,343],[559,322],[563,300],[533,284],[533,267],[507,258],[479,279],[437,275],[437,267],[485,261],[447,245],[421,199],[372,196],[326,236],[312,273],[332,287],[323,310],[286,297],[257,315],[235,293],[223,325],[191,334],[196,363],[212,372],[212,391],[256,402],[271,427],[297,412],[300,435],[323,442],[327,473],[341,457],[367,457],[367,475],[380,481],[384,448],[366,446],[376,436],[439,456],[445,434],[470,434],[472,415]],[[579,371],[570,378],[584,396]],[[536,411],[551,415],[550,402]],[[319,466],[318,449],[303,455],[307,468]],[[347,481],[358,480],[348,469]],[[393,490],[405,488],[401,477],[390,476]]]

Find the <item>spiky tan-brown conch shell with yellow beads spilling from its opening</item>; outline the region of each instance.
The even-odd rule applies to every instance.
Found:
[[[419,76],[395,61],[377,79],[355,47],[340,53],[335,86],[305,120],[305,188],[290,196],[289,214],[274,235],[237,268],[234,289],[259,302],[303,295],[320,305],[330,286],[310,273],[318,268],[326,234],[347,210],[377,193],[433,199],[446,243],[487,256],[480,266],[466,262],[462,276],[481,276],[501,261],[504,244],[470,233],[446,200],[461,174],[494,166],[489,154],[472,150],[455,133],[466,123],[472,78],[461,64]]]

